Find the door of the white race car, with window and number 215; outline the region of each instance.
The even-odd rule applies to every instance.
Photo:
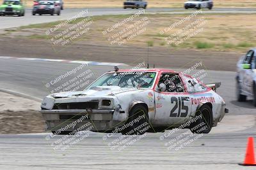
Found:
[[[178,73],[161,73],[155,89],[155,124],[184,124],[191,112],[189,94]]]

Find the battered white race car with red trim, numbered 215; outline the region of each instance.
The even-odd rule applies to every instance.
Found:
[[[88,122],[95,132],[143,134],[186,124],[182,128],[209,133],[228,113],[218,87],[170,69],[115,68],[84,91],[45,97],[41,112],[54,134],[74,134]]]

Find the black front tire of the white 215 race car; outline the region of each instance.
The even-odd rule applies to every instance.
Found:
[[[144,118],[141,118],[141,116],[143,116]],[[133,122],[134,120],[136,120],[136,118],[140,118],[140,120],[138,122]],[[133,124],[132,124],[132,122],[133,122]],[[132,110],[130,111],[129,118],[125,122],[125,124],[126,125],[132,124],[132,125],[126,127],[124,129],[124,131],[122,131],[122,134],[124,134],[124,135],[145,134],[146,131],[143,131],[143,129],[145,127],[148,127],[148,125],[150,125],[149,122],[148,122],[147,108],[145,108],[145,106],[140,105],[140,104],[134,106],[132,108]],[[142,124],[143,124],[143,127],[139,127]]]

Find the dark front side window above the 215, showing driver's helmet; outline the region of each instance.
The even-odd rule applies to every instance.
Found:
[[[184,85],[179,74],[163,73],[161,74],[158,85],[161,83],[166,87],[164,92],[185,92]]]

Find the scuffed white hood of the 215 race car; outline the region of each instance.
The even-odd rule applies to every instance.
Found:
[[[93,87],[90,90],[77,91],[77,92],[60,92],[52,94],[51,96],[55,99],[65,97],[102,97],[102,96],[115,96],[124,92],[136,91],[134,88],[121,88],[118,86],[99,86]]]

